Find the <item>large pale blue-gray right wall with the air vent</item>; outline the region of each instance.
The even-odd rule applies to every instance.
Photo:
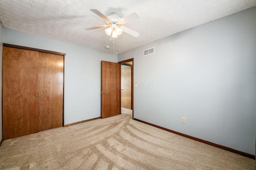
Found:
[[[256,7],[119,54],[134,58],[134,118],[254,155],[255,18]]]

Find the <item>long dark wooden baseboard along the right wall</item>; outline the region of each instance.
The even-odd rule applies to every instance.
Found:
[[[154,126],[154,127],[157,127],[159,129],[163,129],[165,131],[168,131],[168,132],[171,132],[171,133],[175,133],[177,135],[180,135],[180,136],[183,136],[183,137],[186,137],[186,138],[189,138],[189,139],[193,139],[195,141],[198,141],[198,142],[201,142],[201,143],[205,143],[207,145],[211,145],[211,146],[214,146],[214,147],[217,147],[217,148],[220,148],[220,149],[224,149],[224,150],[227,150],[227,151],[230,151],[230,152],[234,152],[236,154],[240,154],[242,156],[246,156],[248,158],[252,158],[252,159],[255,159],[255,156],[252,155],[252,154],[249,154],[249,153],[246,153],[246,152],[242,152],[240,150],[236,150],[236,149],[232,149],[232,148],[229,148],[229,147],[225,147],[223,145],[219,145],[219,144],[216,144],[216,143],[212,143],[212,142],[209,142],[209,141],[205,141],[204,139],[200,139],[200,138],[197,138],[197,137],[193,137],[193,136],[190,136],[190,135],[186,135],[184,133],[180,133],[180,132],[177,132],[177,131],[173,131],[171,129],[167,129],[165,127],[161,127],[161,126],[158,126],[158,125],[154,125],[152,123],[148,123],[146,121],[142,121],[142,120],[139,120],[139,119],[136,119],[136,118],[133,118],[134,120],[136,121],[140,121],[142,123],[145,123],[145,124],[148,124],[148,125],[151,125],[151,126]]]

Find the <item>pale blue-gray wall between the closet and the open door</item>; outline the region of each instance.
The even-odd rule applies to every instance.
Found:
[[[118,55],[6,28],[3,42],[66,53],[64,124],[101,116],[101,61],[116,63]]]

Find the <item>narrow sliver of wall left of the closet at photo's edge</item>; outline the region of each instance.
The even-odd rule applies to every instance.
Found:
[[[0,22],[0,141],[3,139],[2,129],[2,58],[3,58],[3,27]]]

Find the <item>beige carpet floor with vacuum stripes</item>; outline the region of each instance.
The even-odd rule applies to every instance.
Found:
[[[255,168],[253,159],[132,120],[128,109],[122,112],[106,119],[3,141],[0,169]]]

